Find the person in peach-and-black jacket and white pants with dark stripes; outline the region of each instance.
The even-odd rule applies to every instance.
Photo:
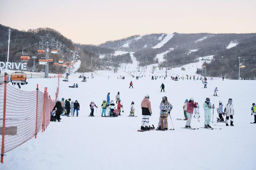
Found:
[[[149,117],[152,115],[151,103],[149,101],[149,95],[146,94],[145,98],[141,101],[141,111],[142,111],[142,121],[141,121],[141,130],[150,130],[148,127]]]

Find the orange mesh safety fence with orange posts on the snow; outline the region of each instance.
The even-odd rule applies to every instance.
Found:
[[[51,110],[59,94],[60,77],[55,96],[52,99],[44,87],[44,92],[38,90],[25,92],[9,85],[7,74],[5,83],[0,84],[0,146],[1,163],[4,153],[25,143],[37,133],[47,129],[50,124]]]

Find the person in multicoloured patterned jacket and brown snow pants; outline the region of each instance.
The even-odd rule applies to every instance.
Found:
[[[162,101],[159,106],[160,109],[160,117],[159,117],[159,122],[158,122],[158,129],[161,130],[168,130],[168,115],[170,115],[170,112],[172,111],[172,105],[171,103],[168,102],[167,97],[164,96],[162,97]]]

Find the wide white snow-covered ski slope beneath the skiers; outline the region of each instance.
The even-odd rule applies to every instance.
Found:
[[[132,55],[132,53],[131,53]],[[79,64],[79,63],[78,63]],[[197,63],[198,67],[202,62]],[[252,103],[255,102],[255,86],[253,80],[228,80],[214,78],[208,79],[207,88],[204,89],[200,80],[193,81],[196,75],[196,63],[190,63],[181,68],[168,70],[168,77],[151,80],[151,70],[156,64],[140,67],[138,72],[137,61],[133,64],[122,64],[118,73],[100,70],[93,73],[84,73],[87,82],[81,82],[78,77],[82,73],[73,73],[69,82],[60,78],[61,98],[78,100],[80,110],[78,117],[62,116],[61,122],[51,122],[44,133],[39,133],[37,139],[30,139],[21,146],[6,152],[1,170],[251,170],[256,169],[256,124],[251,116]],[[75,67],[76,69],[78,66]],[[75,70],[74,70],[75,71]],[[127,72],[135,76],[146,77],[132,78]],[[141,73],[141,71],[143,73]],[[135,73],[133,73],[135,72]],[[91,78],[91,74],[94,78]],[[184,80],[172,81],[171,76],[184,76]],[[185,79],[185,75],[192,76],[192,80]],[[117,79],[119,76],[125,79]],[[165,75],[164,70],[155,70],[154,75]],[[109,79],[108,79],[109,76]],[[196,78],[199,75],[196,75]],[[199,76],[200,78],[200,76]],[[134,89],[129,89],[130,81]],[[21,90],[34,91],[36,84],[43,91],[48,87],[50,95],[56,91],[57,78],[28,79],[28,85],[23,85]],[[78,88],[68,88],[69,85],[78,83]],[[160,92],[160,85],[164,83],[165,92]],[[218,87],[215,97],[213,90]],[[88,117],[89,104],[93,100],[100,114],[102,100],[106,100],[110,92],[110,100],[115,101],[117,92],[120,92],[124,113],[118,117]],[[140,103],[144,95],[150,96],[152,116],[149,124],[157,127],[159,120],[159,105],[163,96],[168,97],[172,104],[172,122],[175,130],[138,132],[141,125]],[[186,121],[183,119],[182,105],[185,99],[193,97],[199,103],[200,122],[192,118],[191,127],[196,130],[183,129]],[[233,99],[234,126],[225,126],[218,123],[211,126],[213,130],[204,127],[205,98],[209,97],[211,103],[218,107],[219,100],[225,106],[229,98]],[[130,112],[131,101],[135,103],[135,115],[127,117]],[[115,102],[116,103],[116,102]],[[211,111],[212,112],[212,111]],[[94,111],[96,115],[96,108]],[[216,122],[217,111],[214,110],[213,121]],[[172,122],[168,117],[169,129]],[[230,120],[229,120],[230,124]],[[222,128],[222,129],[220,129]]]

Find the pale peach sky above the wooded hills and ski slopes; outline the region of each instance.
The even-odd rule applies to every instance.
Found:
[[[0,24],[75,43],[147,33],[255,33],[256,0],[0,0]]]

